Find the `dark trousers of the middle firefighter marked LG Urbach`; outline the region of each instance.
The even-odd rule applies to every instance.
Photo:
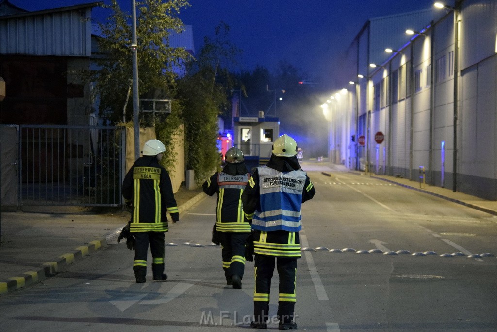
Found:
[[[223,258],[223,270],[226,280],[238,274],[244,276],[245,270],[245,240],[250,233],[240,232],[218,232],[221,240],[221,256]]]

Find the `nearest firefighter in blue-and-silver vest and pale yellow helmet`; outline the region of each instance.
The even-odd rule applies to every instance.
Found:
[[[279,136],[269,162],[257,167],[242,194],[244,213],[251,219],[253,229],[253,329],[267,328],[275,260],[279,275],[278,329],[297,329],[294,311],[297,258],[301,256],[301,207],[316,193],[311,179],[300,167],[297,151],[292,137]]]

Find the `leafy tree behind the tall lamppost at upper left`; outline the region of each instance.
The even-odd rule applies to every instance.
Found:
[[[190,55],[184,48],[170,47],[169,36],[173,31],[182,31],[184,24],[176,15],[187,6],[188,0],[136,2],[140,98],[171,97],[177,76],[173,68]],[[104,55],[97,59],[98,70],[91,73],[90,79],[96,84],[94,93],[100,98],[101,115],[117,122],[133,116],[131,15],[121,10],[117,0],[108,7],[112,15],[99,24],[98,46]]]

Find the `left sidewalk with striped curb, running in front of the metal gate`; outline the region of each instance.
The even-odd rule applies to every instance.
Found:
[[[180,221],[184,211],[205,197],[200,193],[183,204],[178,201]],[[54,209],[45,207],[50,208]],[[75,260],[115,242],[129,218],[126,211],[1,212],[0,296],[64,271]]]

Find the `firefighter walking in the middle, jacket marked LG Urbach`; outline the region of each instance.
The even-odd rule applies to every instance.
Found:
[[[244,163],[242,150],[232,147],[226,151],[226,165],[202,185],[209,196],[217,194],[216,230],[221,242],[221,256],[226,284],[242,288],[245,270],[245,241],[250,223],[242,210],[242,191],[250,173]]]

